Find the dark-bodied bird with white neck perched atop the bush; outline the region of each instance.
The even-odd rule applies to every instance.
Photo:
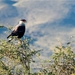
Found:
[[[25,23],[26,23],[27,21],[25,20],[25,19],[21,19],[20,21],[19,21],[19,24],[18,25],[16,25],[13,29],[12,29],[12,32],[11,32],[11,34],[7,37],[7,39],[10,37],[10,36],[17,36],[17,38],[22,38],[23,37],[23,35],[24,35],[24,33],[25,33],[25,30],[26,30],[26,28],[25,28]],[[10,41],[10,40],[9,40]]]

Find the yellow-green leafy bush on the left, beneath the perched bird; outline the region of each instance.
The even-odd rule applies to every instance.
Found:
[[[21,64],[24,67],[24,73],[29,74],[30,63],[33,61],[32,56],[36,55],[38,52],[40,52],[40,50],[36,51],[30,48],[28,39],[11,42],[0,40],[0,75],[11,74],[12,64],[9,65],[11,67],[9,67],[8,64],[4,64],[2,59],[4,60],[5,58],[7,58],[7,61],[10,60],[9,62],[14,61],[14,67],[17,64]]]

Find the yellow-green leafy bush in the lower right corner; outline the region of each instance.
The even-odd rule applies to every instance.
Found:
[[[75,74],[75,53],[72,47],[56,46],[54,53],[45,67],[46,73],[50,75],[74,75]],[[45,71],[44,71],[45,72]]]

